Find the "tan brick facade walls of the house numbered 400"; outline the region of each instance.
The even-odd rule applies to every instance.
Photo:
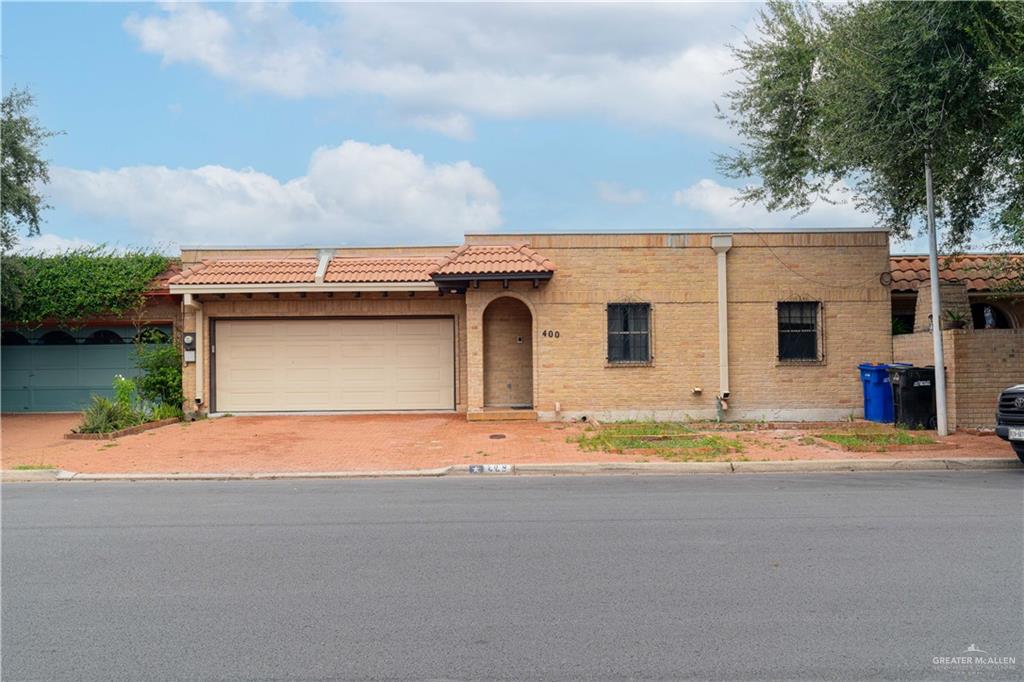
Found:
[[[479,282],[464,295],[391,293],[372,287],[354,293],[204,295],[209,317],[451,314],[457,324],[457,394],[460,411],[504,402],[485,381],[489,367],[519,365],[517,388],[527,384],[542,418],[592,415],[605,419],[713,417],[719,390],[716,256],[710,233],[486,235],[471,244],[527,242],[556,267],[550,282]],[[380,250],[377,250],[380,251]],[[391,254],[414,250],[387,250]],[[416,250],[418,255],[436,250]],[[441,250],[443,251],[443,250]],[[183,260],[197,260],[199,252]],[[267,252],[281,257],[281,251]],[[303,254],[307,255],[307,254]],[[202,253],[205,258],[221,256]],[[234,256],[239,257],[239,256]],[[246,257],[253,257],[252,253]],[[735,233],[728,271],[729,373],[727,419],[841,419],[862,412],[856,366],[888,361],[892,354],[888,239],[879,231]],[[507,286],[507,288],[506,288]],[[487,341],[487,305],[520,300],[532,325],[523,343],[503,349]],[[777,358],[780,301],[820,303],[820,361]],[[649,303],[651,361],[607,361],[608,303]],[[504,305],[504,304],[503,304]],[[506,311],[507,312],[507,311]],[[514,339],[507,317],[505,341]],[[489,318],[489,315],[488,315]],[[194,324],[185,315],[186,329]],[[517,324],[521,324],[517,323]],[[523,329],[527,329],[523,327]],[[209,353],[209,334],[204,335]],[[494,337],[492,337],[494,338]],[[207,356],[209,356],[207,354]],[[209,404],[209,363],[205,403]],[[503,371],[505,371],[503,370]],[[512,376],[512,375],[508,375]],[[492,388],[488,390],[488,383]],[[504,385],[509,383],[504,381]],[[195,392],[195,367],[185,368],[186,395]],[[488,395],[489,393],[489,395]],[[520,398],[506,398],[515,402]]]

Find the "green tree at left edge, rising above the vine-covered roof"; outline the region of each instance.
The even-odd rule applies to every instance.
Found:
[[[40,185],[49,182],[43,143],[59,133],[44,128],[32,114],[35,98],[12,88],[0,103],[0,250],[17,243],[17,226],[39,233],[40,213],[47,208]]]

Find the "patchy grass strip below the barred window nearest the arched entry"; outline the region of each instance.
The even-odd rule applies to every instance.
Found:
[[[622,422],[589,427],[572,440],[587,452],[623,453],[643,451],[674,461],[713,459],[742,450],[733,438],[694,433],[675,422]]]

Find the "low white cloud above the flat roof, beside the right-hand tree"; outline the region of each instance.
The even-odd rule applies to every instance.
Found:
[[[714,227],[870,227],[873,216],[858,211],[852,200],[842,189],[829,200],[834,204],[818,202],[807,213],[771,213],[763,207],[736,202],[738,190],[705,178],[683,189],[676,190],[672,201],[707,216]]]

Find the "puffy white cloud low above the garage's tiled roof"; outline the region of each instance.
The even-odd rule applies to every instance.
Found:
[[[51,169],[55,202],[178,244],[455,243],[501,224],[501,197],[466,161],[428,164],[390,145],[316,150],[285,182],[223,166]]]

